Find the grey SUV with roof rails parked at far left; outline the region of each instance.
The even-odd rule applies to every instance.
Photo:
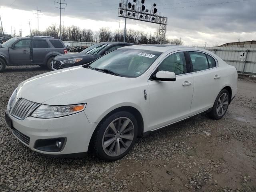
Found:
[[[0,72],[6,66],[40,65],[51,69],[56,55],[68,53],[63,42],[54,37],[14,37],[0,46]]]

